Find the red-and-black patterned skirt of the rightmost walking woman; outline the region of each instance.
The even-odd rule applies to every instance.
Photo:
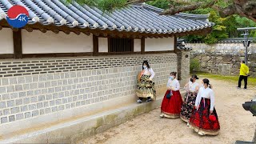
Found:
[[[220,130],[218,122],[218,114],[214,108],[213,114],[216,121],[211,121],[210,115],[210,99],[202,98],[198,110],[194,109],[190,117],[190,128],[194,129],[201,135],[217,135]]]

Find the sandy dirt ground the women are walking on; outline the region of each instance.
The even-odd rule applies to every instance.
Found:
[[[236,89],[236,83],[210,79],[214,86],[221,130],[218,136],[200,136],[178,119],[159,118],[160,109],[138,115],[129,122],[113,127],[102,134],[85,138],[82,143],[149,144],[149,143],[234,143],[251,141],[256,120],[242,108],[242,103],[256,95],[255,88]]]

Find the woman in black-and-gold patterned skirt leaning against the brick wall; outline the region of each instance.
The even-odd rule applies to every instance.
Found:
[[[154,70],[150,68],[147,61],[142,63],[142,71],[138,74],[138,84],[136,95],[138,96],[138,103],[142,103],[142,99],[146,98],[146,102],[151,102],[156,97],[154,89]]]

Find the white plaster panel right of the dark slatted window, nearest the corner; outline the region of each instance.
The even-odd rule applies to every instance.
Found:
[[[174,50],[173,38],[146,38],[145,51]]]

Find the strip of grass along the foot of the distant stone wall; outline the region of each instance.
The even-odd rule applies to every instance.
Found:
[[[224,76],[220,74],[209,74],[209,73],[197,73],[198,76],[200,75],[201,77],[205,78],[213,78],[216,80],[222,80],[225,82],[235,82],[238,83],[238,78],[239,76]],[[243,81],[242,81],[243,85]],[[256,86],[256,78],[248,77],[248,86]]]

